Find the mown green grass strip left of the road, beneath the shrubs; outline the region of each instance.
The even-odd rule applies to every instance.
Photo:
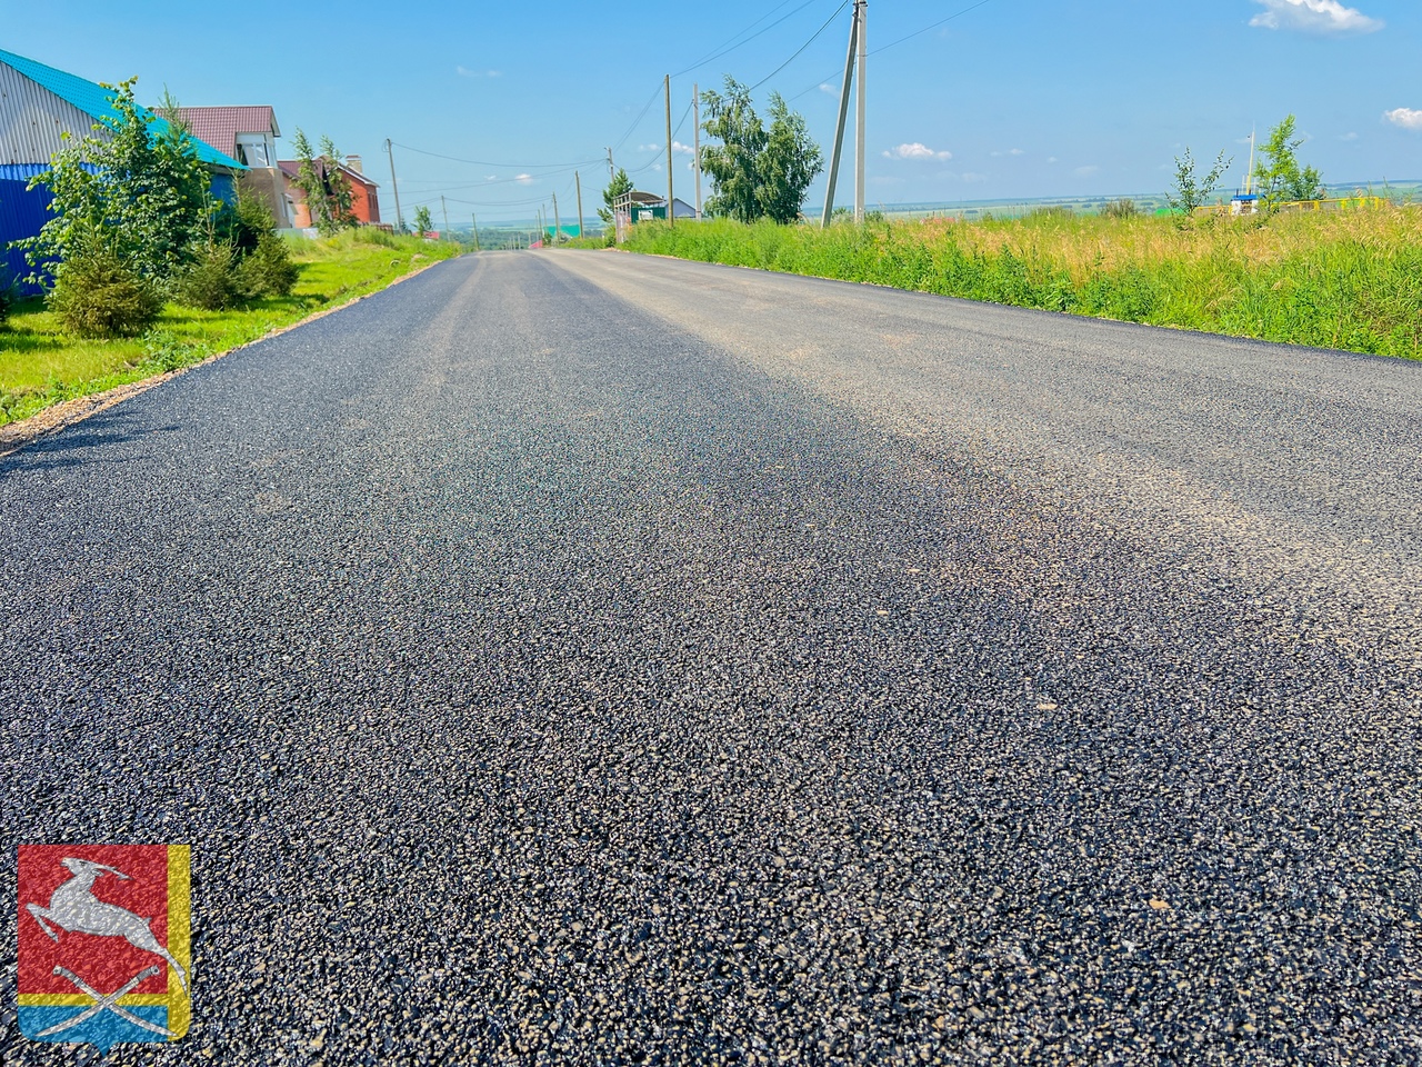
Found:
[[[374,293],[459,248],[381,230],[347,230],[328,240],[297,240],[301,277],[292,296],[230,312],[168,304],[154,327],[129,340],[64,336],[43,300],[16,306],[0,327],[0,425],[61,400],[102,393],[255,341],[316,312]]]

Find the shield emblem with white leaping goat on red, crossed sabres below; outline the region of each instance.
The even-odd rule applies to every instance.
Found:
[[[18,1016],[36,1041],[188,1033],[188,845],[20,845]]]

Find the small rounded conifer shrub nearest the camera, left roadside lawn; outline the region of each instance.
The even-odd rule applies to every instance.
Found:
[[[94,239],[55,270],[48,303],[64,329],[80,337],[135,337],[164,306],[137,267]]]

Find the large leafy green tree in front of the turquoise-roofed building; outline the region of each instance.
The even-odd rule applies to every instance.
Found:
[[[137,81],[104,85],[114,94],[114,114],[100,120],[92,137],[65,144],[50,169],[30,179],[31,189],[53,193],[53,218],[38,236],[17,242],[34,267],[28,280],[40,282],[48,266],[102,235],[108,253],[165,286],[205,242],[220,208],[212,176],[178,121],[175,101],[165,94],[173,121],[161,121],[134,100]]]

